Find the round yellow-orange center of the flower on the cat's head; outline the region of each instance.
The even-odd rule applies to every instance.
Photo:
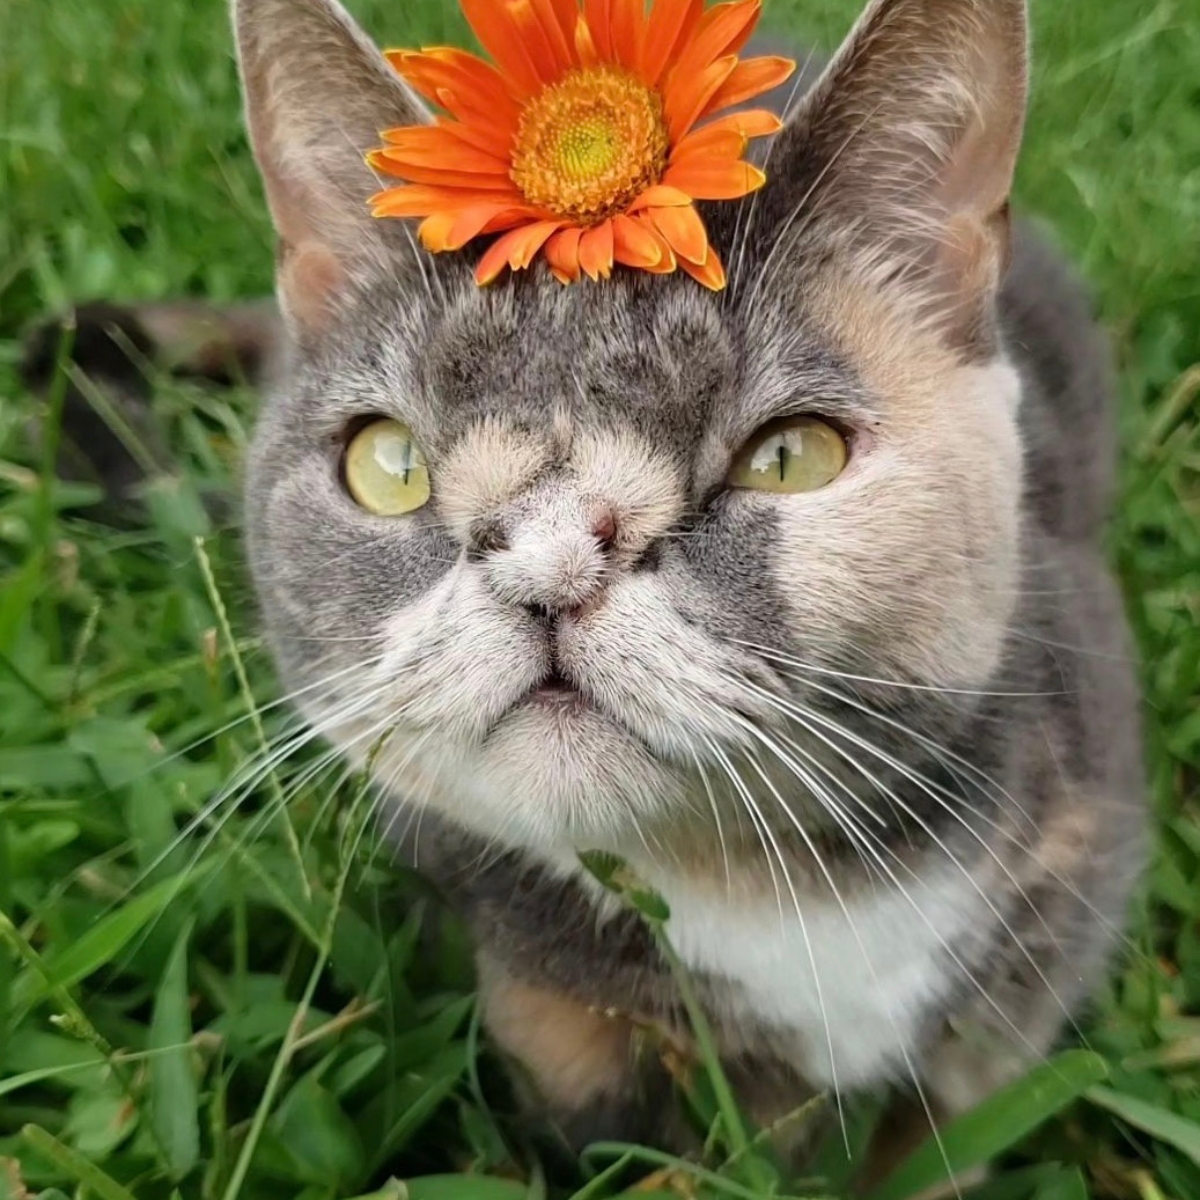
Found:
[[[557,217],[598,224],[662,178],[662,101],[619,67],[570,71],[526,106],[512,181]]]

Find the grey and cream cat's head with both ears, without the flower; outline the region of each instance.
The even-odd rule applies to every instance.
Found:
[[[869,680],[916,685],[878,686],[918,728],[961,715],[940,689],[994,674],[1016,592],[1022,0],[872,5],[766,188],[706,211],[720,294],[542,264],[476,287],[473,252],[367,215],[362,151],[427,116],[349,17],[235,12],[293,343],[248,535],[317,727],[485,835],[628,850],[726,804],[818,822]],[[348,486],[379,419],[427,462],[414,511]]]

